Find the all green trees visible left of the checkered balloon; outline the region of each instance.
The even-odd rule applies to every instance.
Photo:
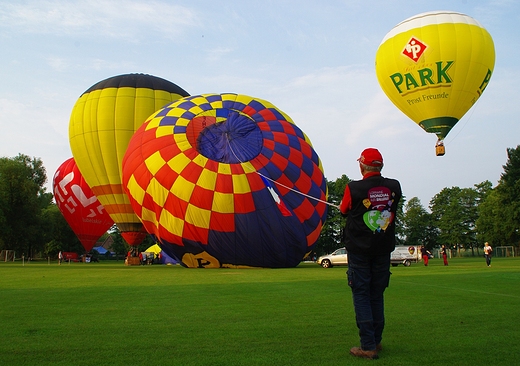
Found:
[[[14,250],[18,258],[56,258],[59,251],[85,254],[81,242],[47,192],[47,173],[39,158],[19,154],[0,158],[0,250]],[[123,255],[128,244],[114,225],[112,249]],[[147,238],[139,249],[153,241]]]

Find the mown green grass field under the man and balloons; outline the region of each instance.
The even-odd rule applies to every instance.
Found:
[[[380,359],[344,267],[0,263],[0,365],[515,365],[520,258],[392,267]]]

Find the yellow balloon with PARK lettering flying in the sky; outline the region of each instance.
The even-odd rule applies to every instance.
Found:
[[[376,74],[388,98],[426,132],[443,140],[475,104],[495,65],[491,35],[456,12],[418,14],[395,26],[376,53]]]

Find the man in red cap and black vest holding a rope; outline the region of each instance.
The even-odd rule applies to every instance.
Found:
[[[348,252],[348,285],[359,329],[356,357],[377,359],[385,326],[383,293],[390,282],[390,253],[395,249],[395,215],[401,185],[381,176],[383,157],[365,149],[358,159],[362,180],[350,182],[339,209],[347,217],[343,241]]]

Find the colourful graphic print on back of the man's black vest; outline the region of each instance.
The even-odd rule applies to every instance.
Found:
[[[394,220],[391,211],[395,193],[386,187],[374,187],[368,191],[368,197],[363,200],[363,205],[368,209],[363,214],[363,221],[373,232],[382,232]]]

